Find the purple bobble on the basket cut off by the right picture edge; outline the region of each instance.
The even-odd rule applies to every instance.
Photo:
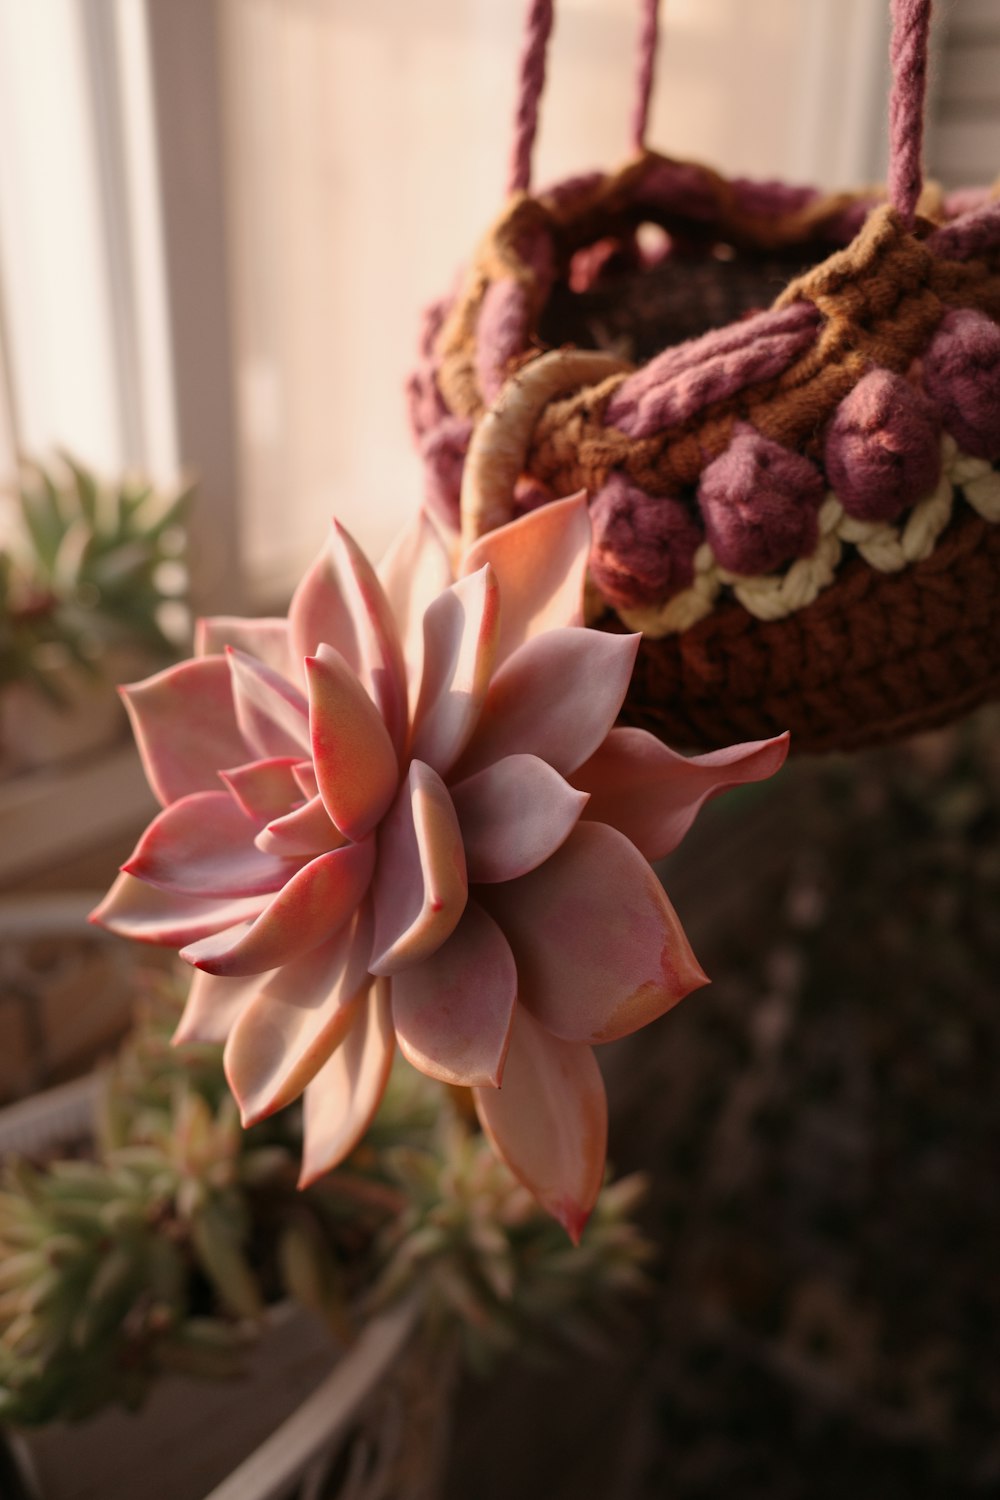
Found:
[[[1000,328],[960,308],[940,322],[924,360],[924,386],[960,448],[1000,459]]]

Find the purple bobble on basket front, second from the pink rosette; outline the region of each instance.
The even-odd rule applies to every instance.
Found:
[[[769,573],[816,548],[823,476],[753,428],[702,474],[699,502],[712,552],[732,573]]]

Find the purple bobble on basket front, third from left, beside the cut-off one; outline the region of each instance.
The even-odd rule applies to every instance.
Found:
[[[870,370],[837,408],[825,460],[849,516],[894,520],[940,477],[934,410],[901,375]]]

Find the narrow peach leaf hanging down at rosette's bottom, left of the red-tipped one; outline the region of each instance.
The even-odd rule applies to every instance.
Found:
[[[382,982],[357,1006],[346,1036],[306,1088],[301,1188],[360,1144],[382,1102],[393,1052],[388,986]]]

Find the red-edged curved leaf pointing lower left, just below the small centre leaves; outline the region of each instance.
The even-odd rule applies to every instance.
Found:
[[[189,944],[181,958],[225,978],[291,963],[343,927],[361,904],[373,867],[373,838],[321,854],[282,886],[255,922]]]

